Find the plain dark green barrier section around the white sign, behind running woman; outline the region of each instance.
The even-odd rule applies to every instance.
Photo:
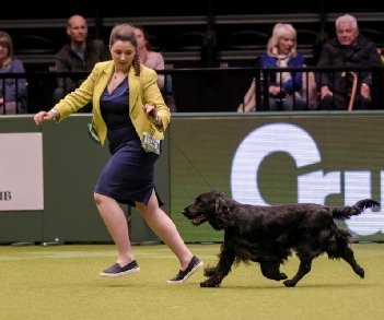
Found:
[[[90,119],[90,115],[72,115],[61,123],[37,127],[33,116],[0,118],[0,134],[42,131],[44,153],[44,210],[0,211],[0,242],[112,241],[93,201],[94,185],[109,153],[107,146],[101,147],[88,135]],[[167,153],[165,142],[164,153],[156,163],[156,185],[166,212],[170,208]],[[27,158],[24,164],[28,165]],[[124,209],[128,214],[128,208]],[[132,241],[156,241],[141,220],[133,213]]]

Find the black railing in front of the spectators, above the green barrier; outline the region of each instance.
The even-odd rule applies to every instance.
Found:
[[[372,109],[383,109],[384,99],[384,67],[383,68],[205,68],[205,69],[166,69],[159,70],[172,81],[167,83],[164,96],[172,96],[179,112],[228,112],[236,111],[244,96],[255,80],[256,111],[268,111],[268,79],[272,73],[302,72],[304,85],[301,92],[306,102],[307,110],[316,110],[318,104],[318,87],[316,83],[324,72],[361,72],[372,74]],[[59,79],[85,79],[88,72],[33,72],[33,73],[0,73],[0,92],[4,92],[4,79],[13,81],[25,79],[27,83],[27,109],[33,114],[54,106],[54,92]],[[18,82],[16,82],[18,83]],[[315,87],[313,87],[315,85]],[[8,114],[7,108],[1,114]]]

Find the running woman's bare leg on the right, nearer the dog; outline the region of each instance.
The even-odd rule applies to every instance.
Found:
[[[181,269],[185,270],[194,254],[184,244],[173,221],[159,208],[154,191],[152,192],[148,205],[137,202],[136,206],[150,228],[176,254],[181,263]]]

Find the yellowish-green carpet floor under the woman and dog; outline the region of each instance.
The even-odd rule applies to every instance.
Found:
[[[220,245],[190,245],[214,264]],[[296,287],[265,278],[257,264],[233,268],[220,288],[200,288],[199,270],[171,285],[178,262],[164,245],[133,246],[141,271],[98,272],[115,262],[112,245],[0,246],[0,319],[383,319],[384,245],[352,245],[365,278],[322,256]],[[298,259],[281,270],[295,273]]]

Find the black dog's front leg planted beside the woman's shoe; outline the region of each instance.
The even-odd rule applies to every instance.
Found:
[[[231,271],[235,260],[235,253],[232,250],[223,249],[219,254],[219,263],[216,266],[207,266],[205,276],[208,278],[200,283],[200,287],[219,287],[222,280]]]

